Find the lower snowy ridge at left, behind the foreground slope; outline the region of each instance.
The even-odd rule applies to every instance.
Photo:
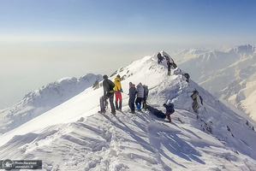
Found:
[[[45,85],[39,90],[29,92],[20,103],[0,112],[0,134],[19,127],[38,115],[55,108],[92,86],[96,80],[103,80],[102,76],[100,74],[86,74],[80,79],[63,78]]]

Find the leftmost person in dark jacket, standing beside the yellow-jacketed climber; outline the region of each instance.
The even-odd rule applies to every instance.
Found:
[[[104,75],[103,76],[103,90],[104,90],[104,96],[100,98],[100,111],[99,113],[105,113],[105,103],[106,100],[109,98],[110,100],[110,107],[111,107],[111,114],[116,115],[116,109],[114,106],[114,87],[115,84],[111,81],[108,80],[108,76]]]

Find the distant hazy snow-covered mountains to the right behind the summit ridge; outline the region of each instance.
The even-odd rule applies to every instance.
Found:
[[[256,50],[241,45],[222,50],[183,50],[173,55],[192,80],[256,121]]]

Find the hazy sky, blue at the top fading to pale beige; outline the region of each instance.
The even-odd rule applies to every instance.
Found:
[[[166,52],[256,44],[255,0],[0,0],[0,109],[63,77]]]

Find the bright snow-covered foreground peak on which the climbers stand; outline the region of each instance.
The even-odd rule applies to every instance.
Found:
[[[162,53],[164,53],[162,51]],[[146,56],[117,69],[122,80],[122,112],[97,113],[102,88],[92,87],[56,108],[0,136],[0,159],[38,159],[43,170],[256,170],[255,122],[235,114],[205,91],[185,81],[182,70],[167,75],[166,63]],[[164,111],[171,101],[172,123],[149,111],[130,114],[128,83],[148,85],[148,102]],[[198,113],[194,90],[203,97]]]

